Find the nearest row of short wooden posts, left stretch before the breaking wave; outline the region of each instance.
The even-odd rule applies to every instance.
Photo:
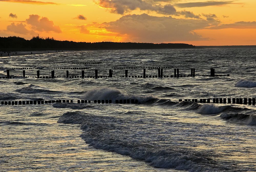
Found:
[[[74,103],[73,100],[23,100],[23,101],[1,101],[1,105],[40,105],[49,103]],[[91,103],[91,100],[77,100],[78,104]],[[94,100],[94,103],[112,104],[112,100]],[[116,104],[138,104],[137,99],[115,100]]]

